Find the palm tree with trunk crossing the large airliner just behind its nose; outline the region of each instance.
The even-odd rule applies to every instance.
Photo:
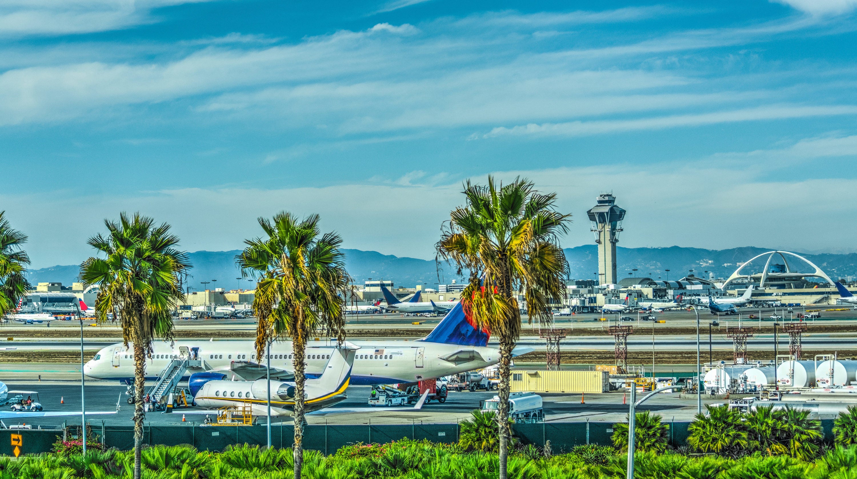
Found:
[[[171,309],[184,300],[179,275],[190,264],[187,254],[176,249],[178,237],[166,223],[120,213],[118,223],[105,219],[105,225],[106,237],[99,233],[87,241],[104,257],[83,261],[80,278],[101,286],[96,320],[105,322],[108,314],[120,318],[125,347],[134,348],[134,479],[140,479],[146,359],[152,356],[153,338],[172,338]]]

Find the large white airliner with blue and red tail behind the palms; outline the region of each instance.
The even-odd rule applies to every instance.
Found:
[[[475,321],[468,318],[464,308],[457,303],[425,338],[354,341],[353,344],[360,346],[361,350],[354,361],[350,384],[371,386],[417,382],[492,366],[500,360],[500,351],[487,346],[490,333],[475,325]],[[318,377],[336,350],[336,340],[309,341],[307,345],[304,362],[308,377]],[[512,354],[519,356],[530,350],[516,348]],[[272,370],[277,374],[294,371],[292,355],[290,340],[274,342],[268,354]],[[146,360],[147,380],[157,379],[173,358],[182,356],[201,359],[200,367],[188,368],[189,374],[213,371],[236,377],[243,377],[236,372],[239,362],[252,362],[255,368],[265,370],[262,364],[267,365],[268,359],[256,357],[253,339],[156,342],[152,357]],[[95,379],[128,384],[134,380],[133,344],[117,343],[99,350],[84,365],[84,372]]]

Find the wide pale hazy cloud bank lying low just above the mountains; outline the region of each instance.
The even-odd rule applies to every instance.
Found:
[[[710,167],[710,162],[684,163],[658,171],[641,171],[636,165],[599,165],[586,168],[499,171],[505,181],[529,177],[539,189],[556,191],[559,207],[572,213],[574,223],[564,246],[591,242],[585,212],[596,195],[612,190],[627,216],[620,244],[641,246],[693,246],[731,248],[776,245],[794,250],[838,248],[839,238],[857,235],[857,222],[842,221],[857,214],[857,180],[848,178],[766,181],[764,168]],[[427,183],[420,183],[422,177]],[[484,182],[485,175],[472,177]],[[347,248],[374,249],[385,254],[431,258],[440,223],[462,203],[460,181],[414,172],[398,182],[351,183],[324,188],[293,189],[170,189],[154,193],[65,197],[0,194],[16,229],[30,236],[27,249],[34,267],[73,264],[92,254],[87,237],[101,231],[103,219],[120,211],[140,211],[173,225],[183,248],[226,250],[240,248],[243,240],[261,233],[258,216],[286,209],[297,214],[320,213],[322,227],[339,231]],[[399,184],[397,184],[399,183]],[[653,187],[652,185],[657,185]],[[819,191],[835,191],[836,201]],[[776,201],[758,198],[788,197],[788,213]],[[750,228],[735,235],[735,218],[753,205],[758,217],[784,219],[764,228]],[[181,205],[177,208],[177,205]],[[384,218],[396,218],[396,228],[383,228],[383,219],[367,219],[380,208]],[[41,221],[45,211],[74,211]],[[419,214],[414,214],[418,211]],[[785,214],[785,216],[784,216]],[[377,215],[375,215],[377,216]],[[706,221],[700,222],[699,218]],[[357,220],[356,220],[357,219]],[[366,219],[366,220],[363,220]],[[828,235],[794,235],[817,225],[830,225]],[[209,234],[211,225],[218,234]],[[688,227],[692,225],[692,227]],[[63,231],[57,236],[56,231]]]

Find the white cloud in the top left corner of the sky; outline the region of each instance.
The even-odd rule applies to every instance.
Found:
[[[4,0],[0,35],[63,35],[117,30],[153,21],[159,7],[210,0]]]

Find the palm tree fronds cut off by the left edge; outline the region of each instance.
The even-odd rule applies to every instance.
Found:
[[[18,300],[30,289],[30,283],[24,277],[30,259],[21,249],[25,242],[27,235],[13,230],[6,219],[6,212],[0,212],[0,318],[14,311]]]

